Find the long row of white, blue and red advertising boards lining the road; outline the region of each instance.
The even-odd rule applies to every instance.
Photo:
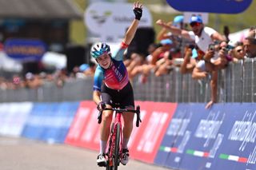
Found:
[[[134,119],[132,159],[175,169],[256,169],[255,103],[135,103],[142,124],[135,127]],[[98,151],[97,116],[93,101],[2,103],[0,136]]]

